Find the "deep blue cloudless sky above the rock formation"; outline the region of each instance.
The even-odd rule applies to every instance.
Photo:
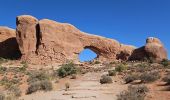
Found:
[[[28,14],[136,47],[153,36],[170,52],[170,0],[1,0],[0,14],[0,26],[15,28],[15,17]]]

